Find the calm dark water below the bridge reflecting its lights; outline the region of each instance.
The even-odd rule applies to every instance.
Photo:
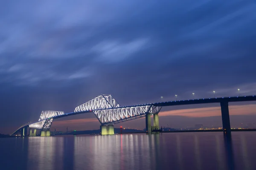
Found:
[[[256,132],[0,139],[0,170],[255,170]]]

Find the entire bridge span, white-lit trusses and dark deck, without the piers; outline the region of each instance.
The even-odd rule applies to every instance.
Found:
[[[65,116],[73,116],[82,113],[93,112],[102,125],[112,125],[119,122],[138,119],[146,114],[158,114],[163,106],[175,105],[192,105],[204,103],[228,103],[228,102],[245,102],[256,101],[256,95],[253,96],[233,96],[220,97],[209,99],[190,99],[169,102],[158,102],[144,105],[120,106],[111,95],[99,95],[88,102],[76,107],[73,113],[64,113],[61,111],[42,111],[37,122],[26,123],[15,130],[15,134],[19,130],[24,130],[27,127],[38,130],[49,130],[53,119],[58,119]]]

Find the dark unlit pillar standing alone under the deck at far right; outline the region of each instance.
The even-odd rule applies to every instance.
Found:
[[[221,117],[222,117],[223,131],[230,133],[231,128],[230,128],[228,102],[221,102]]]

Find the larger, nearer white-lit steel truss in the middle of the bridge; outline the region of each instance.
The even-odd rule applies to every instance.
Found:
[[[159,109],[153,105],[136,105],[121,107],[111,95],[100,95],[79,105],[74,112],[93,111],[102,125],[138,119],[147,113],[157,114]]]

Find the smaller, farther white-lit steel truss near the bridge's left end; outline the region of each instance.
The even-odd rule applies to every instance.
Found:
[[[29,128],[38,130],[49,130],[53,121],[52,117],[60,116],[63,114],[64,112],[62,111],[42,111],[38,122],[30,124]]]

